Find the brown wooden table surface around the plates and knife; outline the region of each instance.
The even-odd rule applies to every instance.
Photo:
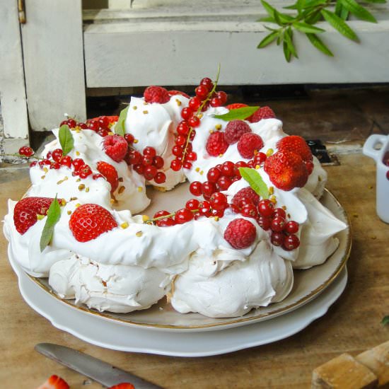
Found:
[[[21,297],[0,237],[0,383],[2,388],[36,388],[51,374],[71,388],[101,385],[37,354],[35,344],[54,342],[74,347],[146,378],[163,388],[308,388],[313,368],[349,352],[359,354],[389,339],[389,225],[376,216],[375,166],[360,153],[339,156],[327,167],[327,187],[352,222],[353,248],[349,281],[339,300],[306,329],[287,339],[221,356],[180,358],[117,352],[83,342],[57,330]],[[0,216],[6,200],[28,187],[23,170],[0,173]],[[161,336],[163,336],[161,334]],[[87,386],[86,386],[87,385]]]

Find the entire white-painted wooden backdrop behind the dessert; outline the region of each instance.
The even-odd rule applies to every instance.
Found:
[[[281,8],[293,1],[269,2]],[[12,8],[9,4],[15,8],[16,0],[0,1],[0,10]],[[349,22],[360,44],[342,37],[327,23],[320,24],[327,30],[323,40],[335,58],[321,54],[296,33],[300,59],[290,64],[275,45],[256,48],[267,34],[257,23],[265,16],[259,0],[134,0],[132,8],[129,0],[105,4],[110,8],[93,10],[82,9],[81,0],[25,0],[27,23],[21,26],[21,41],[33,130],[57,126],[65,112],[85,119],[86,88],[194,85],[203,76],[213,77],[219,63],[221,85],[389,82],[388,4],[375,6],[378,24]],[[93,1],[88,1],[88,6],[93,6]],[[13,28],[15,39],[8,47],[17,45],[17,25]],[[18,39],[20,43],[20,36]],[[18,50],[12,52],[12,66],[0,80],[9,83],[19,69],[16,84],[21,87],[14,89],[23,96]],[[0,83],[4,105],[3,101],[12,98],[1,84],[4,82]],[[25,108],[25,101],[23,104]],[[23,122],[25,113],[14,109],[8,115]],[[19,129],[12,124],[4,117],[6,133],[25,139],[26,120]]]

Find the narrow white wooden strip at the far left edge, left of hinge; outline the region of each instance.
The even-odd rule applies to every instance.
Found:
[[[0,4],[0,103],[5,152],[28,144],[27,103],[17,1]]]

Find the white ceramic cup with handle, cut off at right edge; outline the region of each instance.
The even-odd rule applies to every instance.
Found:
[[[385,153],[389,152],[389,135],[371,135],[366,139],[363,152],[376,161],[376,211],[381,220],[389,223],[389,180],[386,178],[389,166],[383,163]]]

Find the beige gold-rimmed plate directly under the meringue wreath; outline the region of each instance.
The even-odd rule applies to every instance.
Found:
[[[185,189],[182,189],[182,191],[185,191]],[[158,193],[154,195],[158,196]],[[179,196],[180,193],[177,193],[177,195]],[[207,318],[198,313],[187,313],[183,315],[182,313],[176,312],[166,301],[166,298],[147,310],[132,313],[100,313],[97,310],[88,309],[86,306],[78,306],[74,303],[74,300],[62,300],[51,291],[50,286],[47,284],[47,279],[34,277],[30,277],[30,279],[35,281],[47,294],[55,298],[59,304],[66,304],[83,314],[95,315],[101,318],[101,320],[113,320],[115,323],[121,325],[144,327],[151,330],[185,332],[224,330],[230,327],[269,320],[300,308],[317,297],[339,276],[346,265],[352,245],[347,214],[337,199],[328,190],[325,190],[320,202],[330,209],[338,219],[347,223],[348,228],[337,234],[337,238],[339,239],[339,247],[337,250],[323,265],[306,270],[294,270],[294,287],[289,296],[283,301],[270,304],[267,307],[251,310],[250,313],[239,318]],[[159,206],[161,207],[161,204]]]

